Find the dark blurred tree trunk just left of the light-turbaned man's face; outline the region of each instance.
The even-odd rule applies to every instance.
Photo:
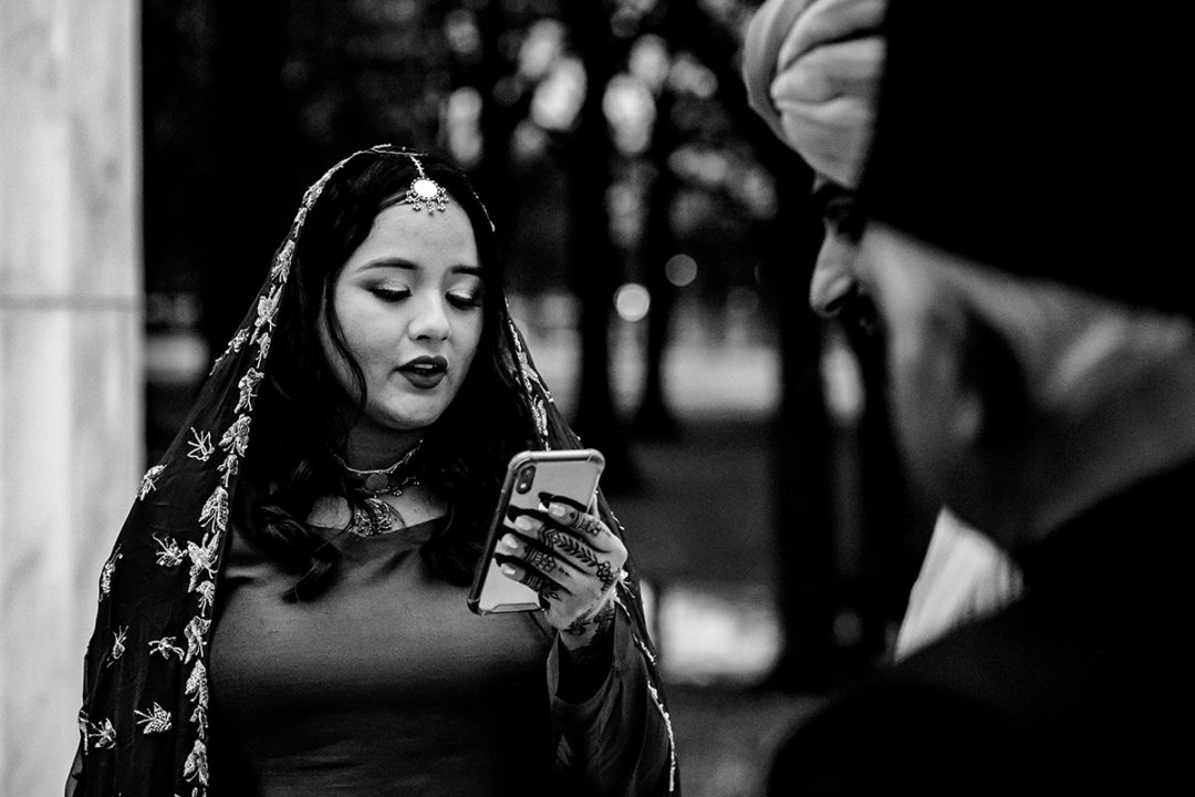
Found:
[[[779,142],[747,105],[739,42],[700,4],[668,5],[669,43],[690,49],[718,79],[725,106],[752,141],[777,185],[777,213],[767,231],[766,301],[780,348],[780,400],[774,419],[777,596],[784,645],[765,686],[822,691],[840,676],[834,615],[840,586],[835,563],[831,424],[821,381],[821,320],[809,309],[822,226],[810,201],[813,172]]]

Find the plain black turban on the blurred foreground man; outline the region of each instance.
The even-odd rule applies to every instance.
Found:
[[[1013,275],[1195,317],[1189,0],[891,0],[871,219]]]

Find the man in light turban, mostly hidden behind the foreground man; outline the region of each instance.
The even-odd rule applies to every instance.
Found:
[[[884,10],[885,0],[768,0],[752,19],[743,55],[752,108],[816,173],[826,233],[809,286],[810,307],[842,321],[864,373],[875,375],[868,388],[880,412],[883,342],[856,260],[863,233],[858,186],[883,70]],[[889,483],[894,478],[884,476]],[[895,522],[888,514],[874,525]],[[870,533],[890,537],[891,529]],[[1011,559],[943,509],[908,596],[895,656],[1003,606],[1019,589]]]

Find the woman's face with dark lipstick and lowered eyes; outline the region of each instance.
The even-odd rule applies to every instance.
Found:
[[[364,374],[354,435],[394,437],[436,422],[460,391],[482,338],[482,268],[468,216],[455,202],[431,215],[396,204],[349,256],[331,300]],[[341,386],[357,386],[326,325],[320,338]]]

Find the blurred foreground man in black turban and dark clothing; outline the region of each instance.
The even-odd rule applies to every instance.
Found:
[[[1193,16],[893,0],[859,277],[911,467],[1025,587],[798,728],[771,793],[1188,778]]]

